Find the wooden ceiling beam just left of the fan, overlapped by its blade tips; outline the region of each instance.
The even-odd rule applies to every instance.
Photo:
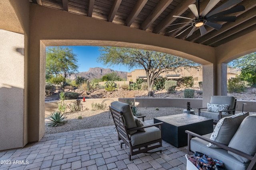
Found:
[[[178,4],[178,6],[176,6],[176,8],[174,8],[174,10],[172,10],[172,12],[170,12],[170,14],[168,14],[168,16],[164,18],[164,20],[162,20],[158,25],[156,25],[156,27],[153,30],[153,33],[159,34],[160,32],[162,32],[166,28],[166,25],[170,25],[173,21],[177,19],[172,16],[180,16],[188,9],[188,5],[194,4],[195,2],[196,0],[186,0],[185,2]]]

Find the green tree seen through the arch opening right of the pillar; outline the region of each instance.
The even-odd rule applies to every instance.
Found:
[[[231,66],[241,69],[241,78],[249,82],[252,87],[256,87],[256,52],[235,59]]]

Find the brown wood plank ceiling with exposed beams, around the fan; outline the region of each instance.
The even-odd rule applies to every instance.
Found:
[[[182,18],[174,18],[173,15],[195,18],[188,8],[190,4],[196,4],[196,0],[29,0],[32,3],[65,10],[70,13],[84,15],[98,20],[104,20],[128,27],[142,29],[163,36],[175,37],[186,27],[175,23],[188,22]],[[204,10],[210,0],[200,0],[200,12]],[[217,0],[218,1],[218,0]],[[224,4],[228,0],[220,0],[213,9]],[[242,35],[256,30],[256,0],[243,0],[238,5],[245,7],[244,11],[229,14],[236,16],[235,22],[216,22],[222,24],[221,29],[216,30],[205,25],[206,34],[201,36],[200,30],[187,38],[191,29],[177,36],[178,39],[218,47],[232,41]],[[232,6],[234,7],[234,6]],[[225,9],[226,10],[226,9]],[[178,29],[179,27],[182,27]],[[168,31],[174,30],[170,33]]]

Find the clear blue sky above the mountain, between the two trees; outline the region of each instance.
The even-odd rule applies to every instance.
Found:
[[[97,58],[100,56],[99,47],[97,46],[68,46],[68,48],[73,49],[73,53],[77,55],[78,58],[78,71],[88,71],[89,68],[102,67],[102,68],[111,68],[112,70],[126,71],[131,72],[125,66],[108,66],[103,65],[102,63],[97,63]]]

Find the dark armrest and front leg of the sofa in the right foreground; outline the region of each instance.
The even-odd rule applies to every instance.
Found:
[[[198,134],[196,134],[196,133],[194,133],[194,132],[191,132],[191,131],[188,131],[188,130],[186,130],[185,132],[188,133],[188,153],[189,153],[189,154],[192,153],[192,151],[190,150],[190,140],[192,139],[192,136],[193,136],[193,137],[198,137],[199,139],[202,139],[202,140],[207,141],[207,142],[209,142],[209,143],[212,143],[213,145],[216,145],[216,146],[218,146],[218,147],[220,147],[220,148],[222,148],[222,149],[228,150],[228,151],[230,151],[230,152],[233,152],[233,153],[235,153],[235,154],[238,154],[238,155],[240,155],[240,156],[243,156],[243,157],[245,157],[245,158],[248,158],[249,160],[252,160],[252,163],[253,163],[253,160],[256,161],[256,154],[255,154],[254,156],[251,156],[251,155],[249,155],[249,154],[246,154],[246,153],[241,152],[241,151],[239,151],[239,150],[230,148],[230,147],[228,147],[228,146],[226,146],[226,145],[223,145],[223,144],[221,144],[221,143],[212,141],[212,140],[210,140],[210,139],[208,139],[208,138],[206,138],[206,137],[203,137],[203,136],[201,136],[201,135],[198,135]],[[255,163],[255,162],[254,162],[254,163]]]

